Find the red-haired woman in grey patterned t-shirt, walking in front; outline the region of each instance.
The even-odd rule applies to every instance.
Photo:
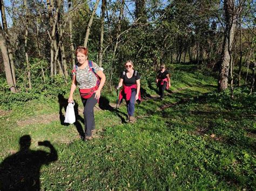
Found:
[[[73,102],[73,93],[78,86],[84,105],[84,140],[91,140],[95,131],[95,118],[93,108],[98,103],[100,91],[106,81],[105,74],[97,63],[87,60],[88,50],[79,46],[76,48],[78,63],[72,70],[73,80],[70,88],[69,103]]]

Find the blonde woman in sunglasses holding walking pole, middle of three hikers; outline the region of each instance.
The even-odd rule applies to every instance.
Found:
[[[120,81],[117,89],[123,86],[123,89],[119,93],[119,102],[124,98],[126,101],[127,120],[129,123],[134,123],[136,118],[134,114],[135,101],[140,102],[140,74],[134,70],[131,60],[125,62],[125,70],[120,74]]]

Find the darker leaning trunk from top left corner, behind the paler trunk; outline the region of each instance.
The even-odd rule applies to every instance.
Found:
[[[12,74],[12,81],[14,81],[14,86],[16,86],[16,78],[15,78],[15,67],[14,67],[14,55],[12,54],[12,47],[11,42],[9,39],[9,33],[8,33],[8,27],[6,23],[6,16],[5,16],[5,9],[4,9],[4,3],[3,0],[1,0],[1,15],[2,15],[2,22],[3,22],[3,37],[6,42],[6,48],[8,51],[8,59],[10,60],[10,66],[11,66],[11,74]]]

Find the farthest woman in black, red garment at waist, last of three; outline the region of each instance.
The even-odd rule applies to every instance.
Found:
[[[159,88],[160,99],[164,100],[164,90],[169,89],[171,86],[171,80],[168,70],[165,69],[165,65],[161,65],[160,70],[157,72],[157,87]]]

